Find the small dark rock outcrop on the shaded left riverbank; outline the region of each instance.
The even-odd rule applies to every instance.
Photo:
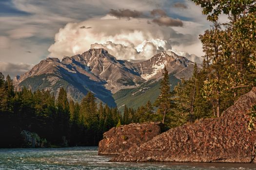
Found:
[[[38,134],[22,130],[23,147],[26,148],[45,148],[47,145],[46,139],[41,139]]]

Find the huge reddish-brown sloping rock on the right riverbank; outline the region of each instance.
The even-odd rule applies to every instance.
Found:
[[[256,87],[216,119],[200,119],[132,147],[112,161],[256,163],[256,130],[248,131]]]

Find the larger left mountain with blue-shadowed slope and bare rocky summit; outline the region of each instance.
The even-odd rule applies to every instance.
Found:
[[[45,89],[58,95],[60,87],[68,97],[80,101],[88,91],[110,106],[116,103],[112,93],[121,88],[136,87],[145,80],[128,61],[119,61],[104,49],[91,49],[72,57],[47,58],[21,75],[17,86]]]

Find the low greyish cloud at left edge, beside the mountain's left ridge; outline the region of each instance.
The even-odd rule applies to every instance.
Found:
[[[14,78],[17,75],[24,74],[28,70],[30,70],[33,67],[33,65],[28,65],[24,63],[6,63],[6,62],[0,62],[0,72],[2,72],[5,76],[10,75],[12,78]]]

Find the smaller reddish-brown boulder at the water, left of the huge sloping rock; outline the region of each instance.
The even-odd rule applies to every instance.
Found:
[[[98,154],[118,155],[131,147],[140,146],[161,133],[160,123],[132,123],[114,127],[103,134],[98,144]]]

